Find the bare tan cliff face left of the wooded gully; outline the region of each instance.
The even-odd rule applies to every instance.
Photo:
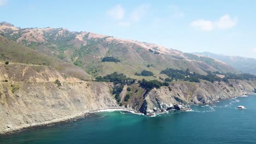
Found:
[[[79,81],[39,65],[0,66],[0,134],[118,107],[111,83]]]

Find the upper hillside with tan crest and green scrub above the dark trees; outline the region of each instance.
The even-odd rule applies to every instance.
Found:
[[[239,73],[212,58],[195,58],[163,46],[108,35],[71,32],[65,28],[18,28],[6,22],[1,23],[0,32],[4,37],[38,52],[75,64],[93,77],[117,71],[134,79],[156,79],[165,77],[160,71],[166,68],[189,69],[202,75],[207,71]],[[119,62],[102,62],[104,57],[112,57]],[[152,71],[154,76],[135,75],[142,70]]]

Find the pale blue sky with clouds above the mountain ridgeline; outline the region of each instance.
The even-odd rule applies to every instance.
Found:
[[[0,0],[0,21],[256,58],[256,1]]]

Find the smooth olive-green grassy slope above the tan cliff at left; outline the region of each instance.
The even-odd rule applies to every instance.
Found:
[[[85,71],[73,64],[63,62],[60,59],[34,51],[24,45],[16,43],[15,41],[4,38],[2,35],[0,35],[0,53],[1,61],[48,65],[69,76],[74,76],[84,80],[89,78],[89,75],[86,74]]]

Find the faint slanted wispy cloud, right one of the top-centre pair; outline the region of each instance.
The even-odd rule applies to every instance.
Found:
[[[131,13],[131,20],[132,21],[141,20],[141,18],[147,14],[149,7],[150,7],[149,4],[142,4],[136,9],[134,9]]]

